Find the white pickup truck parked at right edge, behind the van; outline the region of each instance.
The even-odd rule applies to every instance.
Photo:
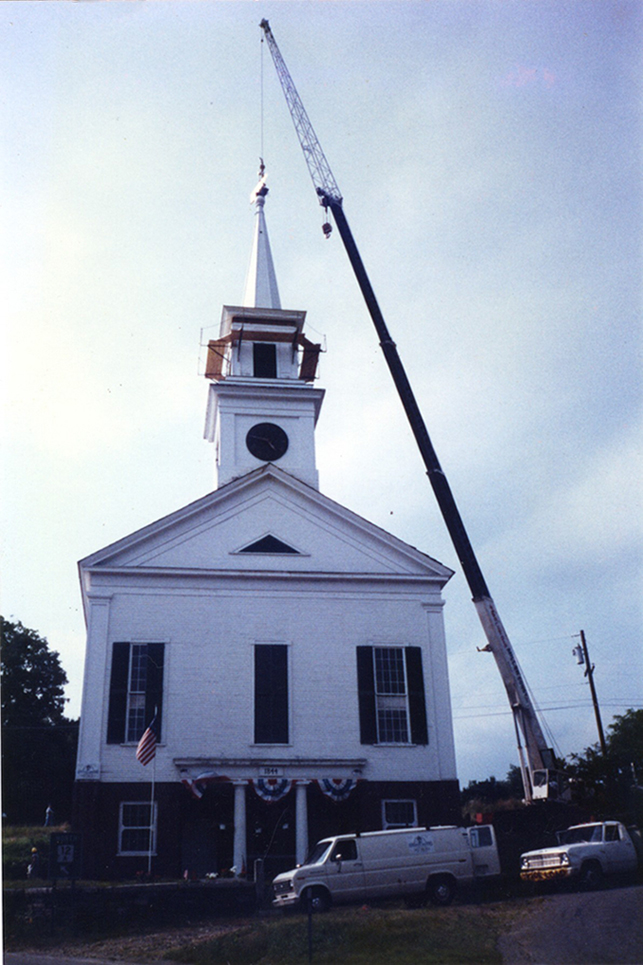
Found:
[[[556,847],[521,855],[523,881],[574,878],[586,888],[596,888],[605,875],[632,874],[637,869],[636,847],[618,821],[577,824],[556,836]]]

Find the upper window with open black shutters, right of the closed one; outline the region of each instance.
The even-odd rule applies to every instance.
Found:
[[[428,744],[420,647],[358,647],[362,744]]]

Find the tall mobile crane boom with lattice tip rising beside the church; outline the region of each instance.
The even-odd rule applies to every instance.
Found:
[[[513,714],[520,772],[525,801],[558,797],[561,788],[561,775],[555,770],[553,750],[547,746],[536,709],[523,679],[516,655],[502,624],[496,606],[487,587],[482,570],[478,564],[473,547],[464,528],[464,523],[456,506],[451,488],[438,461],[435,449],[429,438],[424,419],[416,402],[413,390],[400,360],[395,342],[392,340],[375,293],[369,281],[353,234],[346,220],[343,198],[321,144],[313,130],[297,88],[285,61],[281,56],[270,24],[262,20],[260,27],[270,48],[270,53],[281,83],[286,103],[290,110],[295,130],[301,144],[308,170],[319,199],[326,213],[330,210],[344,243],[346,253],[355,272],[366,306],[375,326],[380,347],[388,364],[393,381],[404,406],[411,429],[418,444],[449,535],[458,555],[473,597],[480,622],[487,638],[482,649],[495,657],[500,676],[505,685],[511,712]],[[332,225],[326,220],[324,234],[328,237]],[[526,752],[526,753],[525,753]]]

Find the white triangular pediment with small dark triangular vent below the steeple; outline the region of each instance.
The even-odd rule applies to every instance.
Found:
[[[424,578],[452,571],[269,465],[86,557],[81,570]]]

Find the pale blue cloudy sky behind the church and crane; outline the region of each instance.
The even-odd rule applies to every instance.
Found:
[[[259,157],[284,308],[324,340],[320,488],[456,571],[460,781],[518,763],[485,638],[267,17],[492,596],[563,756],[643,706],[641,81],[629,0],[0,4],[0,609],[80,712],[77,561],[213,487],[203,344],[242,299]]]

